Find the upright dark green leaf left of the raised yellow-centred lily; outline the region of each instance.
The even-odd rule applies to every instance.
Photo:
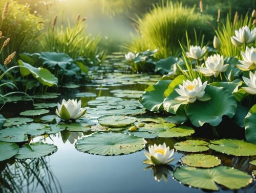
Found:
[[[161,109],[164,100],[164,91],[168,88],[170,81],[160,80],[156,84],[150,85],[142,95],[142,105],[150,111]]]

